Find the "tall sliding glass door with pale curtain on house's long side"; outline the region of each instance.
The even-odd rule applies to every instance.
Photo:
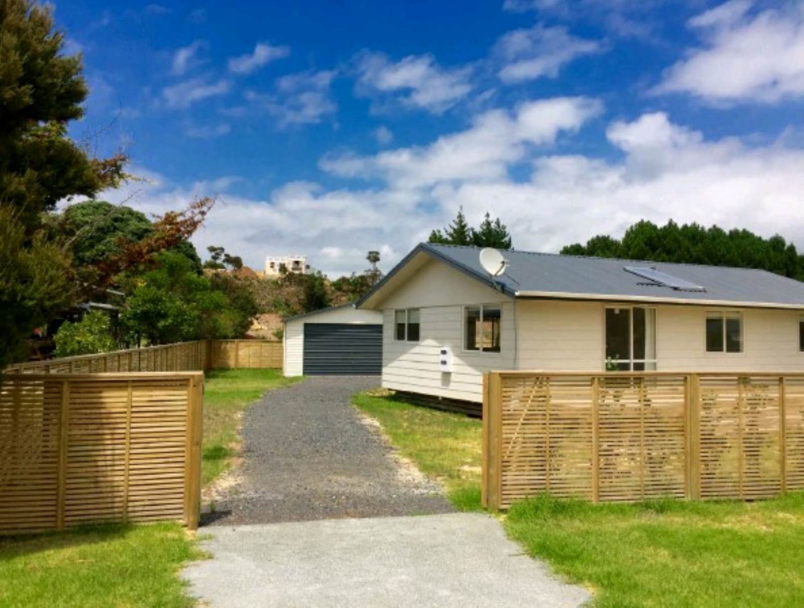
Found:
[[[605,368],[608,372],[644,372],[656,369],[655,308],[606,308]]]

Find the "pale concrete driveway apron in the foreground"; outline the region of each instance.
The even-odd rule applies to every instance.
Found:
[[[203,605],[580,606],[478,513],[221,527],[184,572]],[[207,603],[208,602],[208,603]]]

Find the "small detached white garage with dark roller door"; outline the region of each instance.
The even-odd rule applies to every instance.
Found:
[[[383,316],[347,304],[285,319],[285,376],[379,376]]]

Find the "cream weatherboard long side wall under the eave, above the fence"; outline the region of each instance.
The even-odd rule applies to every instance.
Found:
[[[605,306],[603,302],[520,301],[519,369],[604,370]],[[708,310],[740,311],[743,352],[706,351]],[[804,371],[798,318],[797,310],[657,306],[657,368],[664,372]]]

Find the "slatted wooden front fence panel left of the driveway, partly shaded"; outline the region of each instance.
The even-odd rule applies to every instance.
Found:
[[[0,384],[0,533],[198,526],[203,374],[14,374]]]

